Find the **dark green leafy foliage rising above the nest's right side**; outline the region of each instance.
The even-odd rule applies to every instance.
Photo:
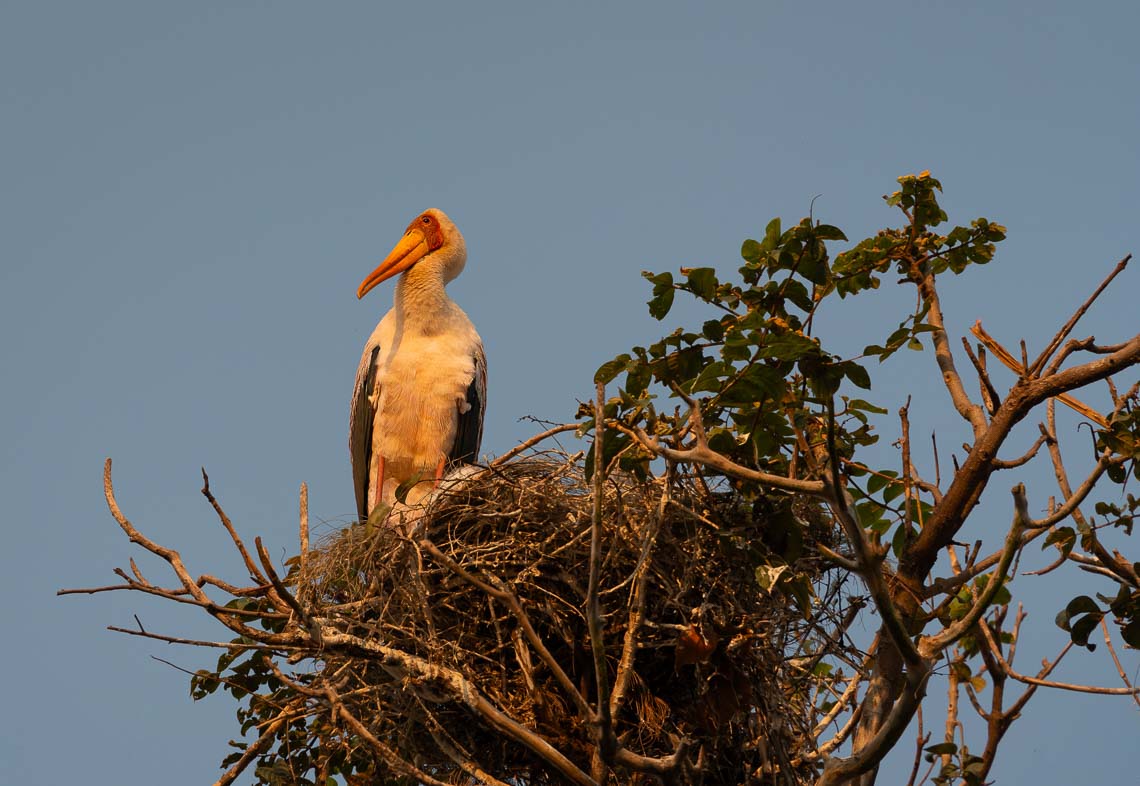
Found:
[[[644,273],[652,284],[653,318],[665,319],[678,293],[710,314],[700,330],[677,329],[598,367],[595,382],[621,382],[605,403],[605,416],[624,426],[605,431],[606,467],[617,461],[624,469],[644,472],[651,456],[630,436],[636,431],[682,447],[692,436],[690,403],[698,408],[711,449],[760,472],[823,477],[833,440],[860,524],[873,543],[889,543],[896,556],[902,554],[931,516],[931,504],[917,489],[906,494],[906,483],[895,470],[873,470],[856,461],[856,453],[878,439],[873,418],[887,410],[848,395],[871,389],[869,368],[861,358],[830,351],[813,335],[812,323],[834,297],[876,290],[891,268],[919,284],[922,293],[927,277],[986,264],[1005,230],[979,218],[938,234],[935,227],[947,218],[937,200],[938,180],[922,172],[902,177],[898,184],[898,191],[885,198],[905,222],[838,256],[832,256],[832,246],[847,243],[840,228],[813,218],[785,228],[774,218],[759,238],[741,244],[743,265],[734,277],[711,267],[682,268],[679,275]],[[926,322],[928,309],[923,294],[914,313],[863,355],[882,363],[903,347],[921,349],[921,337],[934,330]],[[663,406],[662,392],[668,402]],[[591,431],[593,407],[584,405],[579,418],[581,432]],[[594,471],[593,461],[589,451],[587,472]],[[759,484],[736,478],[730,483],[746,501],[756,503],[766,495]],[[806,607],[805,588],[785,567],[765,561],[757,567],[757,581]]]

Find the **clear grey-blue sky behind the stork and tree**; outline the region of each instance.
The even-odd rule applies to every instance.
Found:
[[[1009,227],[993,265],[945,284],[955,333],[983,318],[1041,347],[1140,250],[1138,8],[0,3],[0,780],[219,775],[234,705],[190,702],[186,674],[152,657],[194,670],[215,654],[105,626],[220,629],[141,595],[55,591],[113,583],[139,554],[105,510],[105,456],[127,514],[195,574],[242,578],[199,467],[282,558],[302,480],[319,532],[350,518],[348,402],[391,286],[355,291],[417,212],[445,209],[467,240],[450,291],[487,347],[488,454],[534,432],[524,415],[572,418],[602,362],[703,318],[651,319],[642,269],[731,272],[743,238],[815,195],[817,218],[863,237],[896,221],[880,195],[922,169],[952,219]],[[1138,281],[1077,333],[1134,334]],[[820,333],[858,353],[912,303],[888,281]],[[966,431],[931,355],[906,355],[872,368],[876,395],[891,410],[913,395],[915,432],[948,451]],[[893,418],[882,430],[886,463]],[[1062,432],[1086,445],[1076,420]],[[999,478],[968,537],[1004,532],[1018,480],[1035,511],[1054,493],[1044,468]],[[1023,670],[1064,643],[1065,599],[1105,589],[1019,578]],[[1119,684],[1104,648],[1058,673]],[[994,775],[1134,784],[1138,720],[1127,698],[1042,691]],[[905,781],[912,736],[882,783]]]

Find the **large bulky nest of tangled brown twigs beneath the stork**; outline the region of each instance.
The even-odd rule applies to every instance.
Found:
[[[796,679],[785,666],[807,623],[788,597],[762,588],[756,568],[779,562],[782,550],[792,557],[792,570],[819,578],[823,565],[796,553],[811,554],[811,548],[789,545],[788,521],[793,540],[809,546],[833,541],[830,520],[806,500],[744,502],[677,480],[666,493],[665,483],[613,473],[604,484],[598,588],[610,684],[630,611],[641,606],[614,730],[622,745],[646,756],[670,754],[679,737],[694,740],[705,784],[814,779],[812,764],[793,762],[812,745],[811,699],[806,689],[789,690]],[[357,525],[339,533],[308,556],[299,595],[345,633],[464,674],[588,772],[594,730],[527,642],[518,615],[470,578],[519,599],[549,654],[593,705],[584,610],[593,508],[578,462],[516,460],[438,495],[416,517],[410,536],[401,526]],[[427,543],[448,559],[433,557]],[[455,763],[458,753],[498,778],[560,783],[483,719],[405,675],[348,656],[326,658],[324,670],[348,675],[341,695],[355,697],[358,716],[437,778],[470,780]],[[611,783],[640,783],[635,775],[614,775]]]

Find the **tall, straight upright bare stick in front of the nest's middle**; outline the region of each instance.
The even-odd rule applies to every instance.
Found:
[[[602,761],[609,764],[618,747],[610,715],[610,680],[605,670],[605,640],[603,639],[602,609],[597,601],[598,573],[602,567],[602,502],[605,491],[605,386],[597,383],[594,399],[594,509],[589,525],[589,580],[586,586],[586,625],[589,648],[594,656],[594,682],[597,690],[595,722],[598,726],[598,748]]]

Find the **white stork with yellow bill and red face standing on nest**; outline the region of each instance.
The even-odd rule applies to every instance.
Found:
[[[483,435],[487,358],[475,326],[445,286],[467,261],[463,235],[442,210],[426,210],[357,290],[400,275],[396,305],[364,347],[352,391],[349,449],[357,512],[422,500],[448,462],[474,462]]]

